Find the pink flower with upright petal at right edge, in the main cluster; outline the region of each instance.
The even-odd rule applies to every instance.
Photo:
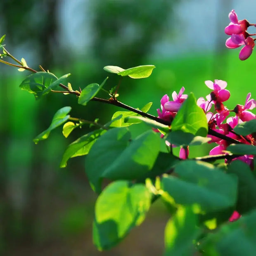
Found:
[[[247,111],[247,110],[254,109],[256,107],[256,100],[254,99],[250,100],[250,97],[251,97],[251,93],[249,92],[247,94],[244,106],[237,104],[233,110],[235,114],[239,116],[239,118],[242,121],[250,121],[252,119],[256,119],[255,114],[251,113],[250,111]]]

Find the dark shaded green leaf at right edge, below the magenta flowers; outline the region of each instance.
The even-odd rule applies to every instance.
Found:
[[[256,178],[249,166],[240,160],[232,161],[227,172],[238,177],[236,210],[243,215],[256,208]]]

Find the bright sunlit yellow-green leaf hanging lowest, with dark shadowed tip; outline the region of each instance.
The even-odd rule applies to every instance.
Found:
[[[140,225],[150,207],[151,194],[142,184],[130,185],[116,181],[100,194],[95,205],[93,242],[97,249],[106,250]]]

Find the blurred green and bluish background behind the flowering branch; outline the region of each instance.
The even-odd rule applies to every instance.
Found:
[[[106,76],[106,89],[117,85],[119,78],[102,69],[106,65],[127,69],[154,64],[149,78],[123,78],[120,101],[133,107],[153,102],[149,113],[156,115],[164,94],[171,97],[173,90],[184,86],[185,93],[206,96],[209,88],[204,81],[222,79],[228,82],[227,107],[232,109],[244,104],[248,92],[256,97],[255,53],[241,62],[239,50],[225,48],[223,31],[233,8],[239,19],[254,14],[235,0],[2,0],[0,31],[7,35],[6,48],[15,57],[24,57],[34,69],[41,64],[57,76],[71,73],[75,90],[101,83]],[[18,88],[28,75],[1,65],[0,254],[161,254],[169,215],[160,202],[115,249],[100,253],[93,246],[97,195],[85,176],[85,157],[70,159],[67,168],[59,168],[67,145],[88,127],[67,139],[59,128],[48,140],[33,143],[61,107],[71,106],[71,116],[99,118],[100,123],[121,109],[97,102],[83,107],[73,95],[51,94],[35,101]],[[100,96],[106,97],[104,92]],[[209,149],[192,148],[190,156],[208,154]]]

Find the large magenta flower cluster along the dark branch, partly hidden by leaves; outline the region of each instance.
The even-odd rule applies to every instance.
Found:
[[[256,119],[256,115],[249,111],[256,107],[256,100],[250,99],[251,93],[248,93],[244,105],[237,104],[234,109],[229,110],[223,104],[223,102],[227,101],[230,98],[230,92],[227,89],[225,89],[227,86],[227,82],[222,80],[214,80],[214,82],[205,81],[205,84],[212,91],[209,93],[209,95],[206,96],[206,100],[204,97],[200,97],[197,100],[197,105],[204,110],[209,128],[221,135],[225,135],[227,138],[229,137],[235,139],[244,144],[256,145],[253,135],[242,136],[238,135],[233,130],[235,126],[237,126],[237,124],[239,123]],[[183,95],[184,90],[185,88],[182,87],[178,95],[174,91],[172,94],[172,101],[169,101],[168,95],[164,95],[162,97],[161,109],[157,109],[159,118],[164,119],[166,121],[170,121],[170,123],[172,122],[173,118],[180,109],[182,103],[187,98],[187,95]],[[210,111],[212,107],[214,107],[213,112]],[[234,113],[235,116],[230,116],[230,114],[232,113]],[[211,138],[211,140],[208,143],[217,144],[216,147],[213,147],[213,149],[211,149],[209,155],[225,154],[225,150],[230,145],[230,142],[228,140],[221,139],[213,135],[207,136]],[[164,137],[164,135],[161,135],[161,137]],[[166,144],[168,146],[171,146],[171,144],[167,141]],[[175,145],[172,146],[175,147]],[[188,146],[182,147],[180,149],[181,159],[187,159],[188,154]],[[245,162],[253,170],[253,155],[239,156],[237,158],[232,159],[231,161],[236,159]],[[237,211],[235,211],[229,220],[234,221],[237,218],[240,218],[240,216],[241,215]]]

